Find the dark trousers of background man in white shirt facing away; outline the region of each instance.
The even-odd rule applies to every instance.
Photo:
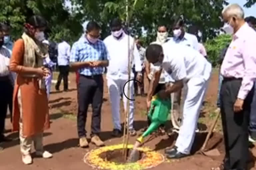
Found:
[[[69,66],[68,65],[60,65],[59,66],[59,76],[58,76],[58,81],[55,86],[57,90],[60,88],[60,83],[61,80],[63,79],[63,85],[64,85],[64,90],[68,90],[68,73],[69,73]]]

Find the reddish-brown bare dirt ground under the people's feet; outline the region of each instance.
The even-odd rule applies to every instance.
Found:
[[[44,160],[41,158],[34,158],[34,163],[29,166],[23,165],[21,161],[21,155],[19,152],[19,140],[18,133],[8,133],[9,137],[14,138],[14,141],[2,144],[4,150],[0,152],[0,170],[82,170],[91,168],[83,163],[83,156],[94,146],[90,145],[89,149],[81,149],[77,147],[77,129],[76,129],[76,117],[77,112],[77,96],[74,74],[70,75],[70,92],[57,93],[53,90],[50,96],[50,105],[52,106],[51,112],[51,128],[45,131],[44,144],[45,149],[53,153],[53,158]],[[202,124],[205,126],[210,125],[211,119],[209,114],[214,109],[217,91],[217,74],[214,73],[211,79],[210,86],[207,92],[207,108],[202,113]],[[104,89],[104,104],[102,108],[102,134],[101,138],[106,142],[106,145],[119,144],[122,142],[122,138],[112,138],[112,120],[111,120],[111,108],[109,103],[109,97],[107,88]],[[122,109],[123,107],[121,107]],[[137,130],[143,128],[146,125],[145,117],[145,98],[136,98],[136,113],[135,113],[135,128]],[[123,112],[122,112],[123,113]],[[201,118],[200,118],[201,119]],[[87,119],[86,128],[90,129],[91,120],[91,108],[89,109],[89,116]],[[7,130],[10,129],[9,119],[7,119]],[[193,146],[193,152],[197,151],[205,138],[206,134],[197,134],[195,144]],[[130,143],[135,141],[136,137],[131,138]],[[164,148],[174,144],[176,135],[160,136],[147,143],[152,149],[163,153]],[[207,170],[213,166],[217,166],[223,159],[223,142],[220,133],[214,133],[210,140],[209,147],[214,146],[216,143],[217,148],[221,151],[222,155],[217,158],[209,158],[199,154],[177,160],[167,161],[154,169],[182,169],[182,170]],[[34,151],[33,151],[34,152]],[[256,155],[256,150],[253,148],[252,152]],[[33,154],[32,154],[33,155]],[[254,163],[250,165],[251,169],[254,167]]]

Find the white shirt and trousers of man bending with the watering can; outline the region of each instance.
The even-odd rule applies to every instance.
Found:
[[[183,123],[175,145],[179,152],[189,154],[212,66],[199,51],[188,46],[167,43],[163,50],[163,69],[175,81],[184,80]]]

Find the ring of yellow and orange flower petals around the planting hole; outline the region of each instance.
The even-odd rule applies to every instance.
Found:
[[[132,149],[133,145],[128,145],[128,149]],[[84,156],[84,162],[94,169],[108,169],[108,170],[143,170],[156,167],[165,161],[164,156],[152,149],[146,147],[139,147],[137,150],[145,153],[145,157],[134,163],[118,164],[104,160],[100,154],[107,151],[122,149],[123,144],[105,146],[91,150]]]

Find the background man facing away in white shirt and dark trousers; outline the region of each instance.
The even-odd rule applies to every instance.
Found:
[[[63,79],[64,91],[68,91],[68,74],[69,74],[69,58],[70,58],[70,45],[62,40],[58,44],[58,66],[59,66],[59,76],[58,81],[55,86],[57,91],[60,90],[60,83]]]

